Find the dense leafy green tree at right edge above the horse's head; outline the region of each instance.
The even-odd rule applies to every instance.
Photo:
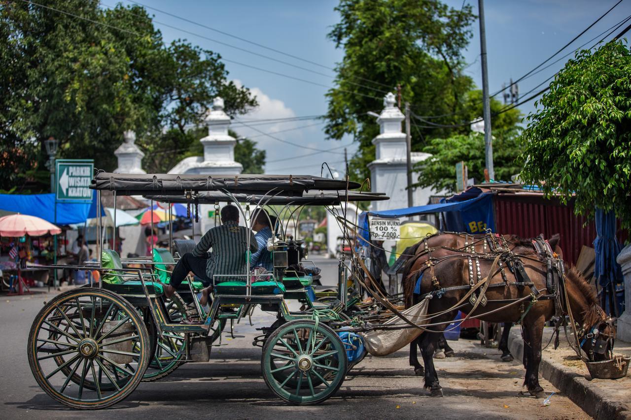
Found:
[[[577,213],[614,210],[631,227],[631,52],[622,41],[567,62],[528,116],[524,182],[567,201]]]

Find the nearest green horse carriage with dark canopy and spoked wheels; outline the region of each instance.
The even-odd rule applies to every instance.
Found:
[[[193,213],[198,204],[228,201],[241,209],[239,203],[245,203],[241,210],[248,227],[251,205],[333,206],[387,199],[382,194],[349,192],[358,187],[310,176],[114,173],[98,173],[91,185],[99,195],[110,190],[114,197],[145,195],[156,201],[186,202]],[[103,238],[98,240],[103,249]],[[262,306],[278,318],[262,340],[266,384],[286,402],[318,404],[338,390],[348,366],[345,346],[328,325],[348,306],[346,266],[339,263],[338,299],[328,304],[314,301],[307,289],[308,276],[287,271],[290,260],[305,259],[299,248],[293,238],[274,242],[274,272],[263,281],[251,275],[245,255],[247,270],[239,281],[215,278],[209,310],[199,305],[202,285],[193,278],[180,284],[172,298],[165,298],[163,284],[168,283],[177,254],[156,249],[151,260],[124,260],[103,250],[98,266],[90,267],[101,272],[98,287],[61,293],[35,318],[28,339],[35,380],[69,407],[109,407],[143,380],[163,378],[182,363],[208,361],[227,320]],[[292,311],[286,300],[302,301],[304,306]]]

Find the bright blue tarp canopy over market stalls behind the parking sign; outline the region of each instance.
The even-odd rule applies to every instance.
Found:
[[[97,217],[97,193],[94,192],[91,203],[56,203],[55,194],[0,194],[0,209],[37,216],[55,225],[85,223],[86,219]],[[105,216],[103,210],[101,214]]]

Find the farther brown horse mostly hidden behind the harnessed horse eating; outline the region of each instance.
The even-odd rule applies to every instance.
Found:
[[[463,250],[475,254],[489,254],[505,248],[509,250],[514,250],[516,247],[524,246],[530,248],[531,241],[532,239],[526,240],[519,238],[519,236],[516,235],[499,236],[493,235],[492,233],[487,233],[485,235],[469,235],[468,233],[440,232],[427,236],[427,238],[423,238],[423,240],[416,243],[416,245],[406,249],[404,254],[414,255],[413,258],[408,260],[407,264],[410,265],[417,260],[426,262],[431,255],[432,249],[434,248],[451,248],[453,250]],[[558,247],[558,241],[559,235],[555,234],[551,236],[548,243],[550,243],[550,247],[558,255],[563,255],[561,249]],[[416,279],[411,279],[411,281],[406,280],[407,279],[404,276],[403,288],[406,290],[406,307],[410,307],[412,305],[411,297],[413,296],[412,291],[416,285]],[[502,326],[502,336],[500,337],[500,341],[498,343],[498,350],[502,352],[500,359],[502,361],[509,362],[513,360],[513,356],[510,354],[508,345],[512,322],[504,322]],[[416,347],[420,347],[420,342],[421,339],[419,337],[410,343],[410,366],[413,366],[416,375],[423,376],[425,375],[425,370],[418,361],[418,353],[416,351]],[[445,355],[448,355],[449,353],[453,354],[453,350],[449,347],[449,344],[447,344],[443,334],[440,335],[439,347],[445,349]]]

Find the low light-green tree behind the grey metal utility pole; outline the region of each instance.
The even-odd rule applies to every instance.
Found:
[[[484,180],[485,155],[484,134],[470,132],[456,134],[446,139],[431,139],[423,148],[432,157],[418,163],[415,170],[420,172],[415,187],[433,187],[437,191],[456,191],[456,163],[464,161],[468,177],[477,182]],[[493,131],[493,163],[497,180],[510,180],[519,173],[516,163],[520,149],[519,129]]]

